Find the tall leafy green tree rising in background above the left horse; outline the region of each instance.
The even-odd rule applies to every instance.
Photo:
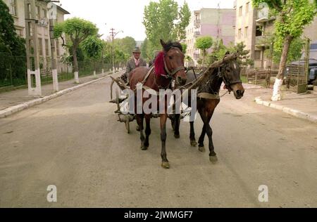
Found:
[[[189,25],[190,11],[185,2],[180,11],[174,0],[151,1],[144,8],[143,24],[151,50],[161,48],[160,39],[185,39],[185,28]]]

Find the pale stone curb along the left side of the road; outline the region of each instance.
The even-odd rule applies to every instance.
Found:
[[[120,72],[116,72],[116,74],[118,74],[118,73],[120,73]],[[77,89],[81,89],[82,87],[85,87],[85,86],[87,86],[89,84],[93,84],[93,83],[95,83],[97,81],[100,81],[102,79],[106,79],[107,77],[109,77],[111,75],[112,74],[108,74],[105,77],[101,77],[99,79],[94,79],[92,81],[87,81],[85,84],[80,84],[78,86],[74,86],[74,87],[71,87],[71,88],[68,88],[68,89],[63,89],[62,91],[58,91],[57,93],[53,93],[53,94],[51,94],[49,96],[44,96],[43,98],[37,98],[35,100],[30,100],[30,101],[28,101],[26,103],[21,103],[19,105],[8,107],[5,110],[0,110],[0,118],[8,117],[10,115],[13,115],[16,112],[20,112],[20,111],[28,109],[28,108],[30,108],[32,106],[45,103],[45,102],[47,102],[49,100],[52,100],[54,98],[57,98],[59,96],[63,96],[65,94],[73,92],[73,91],[75,91]]]

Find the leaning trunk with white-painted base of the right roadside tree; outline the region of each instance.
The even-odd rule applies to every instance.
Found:
[[[275,84],[273,87],[273,96],[271,98],[272,101],[281,100],[282,97],[280,95],[280,87],[282,86],[285,74],[285,67],[287,63],[287,56],[290,49],[290,44],[292,43],[293,38],[290,35],[287,35],[284,39],[284,45],[282,50],[282,57],[280,58],[280,68],[278,70],[278,75],[275,79]]]

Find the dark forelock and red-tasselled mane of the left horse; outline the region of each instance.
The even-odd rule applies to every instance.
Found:
[[[156,75],[166,75],[165,66],[164,66],[164,55],[166,52],[170,51],[171,48],[179,48],[182,51],[182,45],[177,41],[168,41],[163,46],[163,51],[160,51],[158,55],[156,55],[154,66]]]

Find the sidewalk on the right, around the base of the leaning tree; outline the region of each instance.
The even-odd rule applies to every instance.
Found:
[[[294,117],[309,120],[317,123],[317,95],[313,93],[297,94],[282,92],[282,100],[271,101],[272,90],[261,89],[263,94],[256,97],[259,105],[265,105],[275,110],[280,110]]]

